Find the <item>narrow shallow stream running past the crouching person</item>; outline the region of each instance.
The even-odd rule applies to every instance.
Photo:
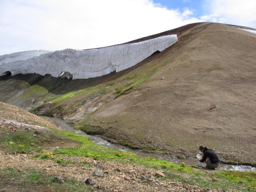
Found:
[[[110,143],[109,141],[102,139],[100,136],[93,136],[93,135],[86,134],[86,132],[83,132],[81,130],[76,130],[73,127],[71,127],[70,125],[68,125],[64,120],[61,120],[58,118],[52,118],[52,117],[48,117],[48,116],[42,116],[42,117],[47,118],[48,120],[51,120],[52,122],[57,124],[58,127],[60,127],[61,129],[65,130],[65,131],[72,131],[72,132],[76,132],[77,134],[84,135],[87,138],[89,138],[90,141],[92,141],[93,143],[96,143],[97,145],[100,145],[100,146],[105,146],[105,147],[113,148],[116,150],[132,152],[134,154],[137,154],[138,156],[144,156],[144,157],[150,156],[150,157],[154,157],[156,159],[170,161],[171,163],[175,163],[175,164],[186,163],[187,165],[190,165],[190,166],[192,166],[192,165],[193,166],[196,165],[198,167],[205,166],[204,163],[198,162],[198,159],[196,158],[196,154],[195,154],[194,158],[189,157],[186,159],[178,159],[176,156],[172,156],[172,155],[166,155],[166,154],[160,154],[160,153],[159,154],[146,153],[146,152],[143,152],[142,150],[132,149],[129,147],[124,147],[122,145]],[[234,171],[240,171],[240,172],[248,172],[248,171],[256,172],[255,167],[246,166],[246,165],[220,164],[218,166],[218,168],[220,170],[234,170]]]

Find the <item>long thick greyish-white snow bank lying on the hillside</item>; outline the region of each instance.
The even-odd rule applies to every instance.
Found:
[[[177,35],[168,35],[99,49],[17,52],[0,56],[0,74],[51,74],[72,79],[99,77],[130,68],[177,41]]]

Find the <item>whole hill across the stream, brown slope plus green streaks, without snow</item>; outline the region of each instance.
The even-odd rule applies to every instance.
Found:
[[[3,76],[0,98],[129,147],[191,157],[206,145],[223,161],[255,164],[256,35],[240,28],[197,23],[134,40],[178,36],[106,76]]]

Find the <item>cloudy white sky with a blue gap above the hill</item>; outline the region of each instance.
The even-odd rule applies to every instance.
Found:
[[[256,0],[0,0],[0,55],[122,44],[194,22],[256,28]]]

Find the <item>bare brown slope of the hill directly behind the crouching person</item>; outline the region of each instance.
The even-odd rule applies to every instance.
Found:
[[[207,145],[222,159],[255,163],[256,35],[204,23],[178,38],[154,58],[166,60],[161,70],[93,113],[98,133],[185,156]]]

